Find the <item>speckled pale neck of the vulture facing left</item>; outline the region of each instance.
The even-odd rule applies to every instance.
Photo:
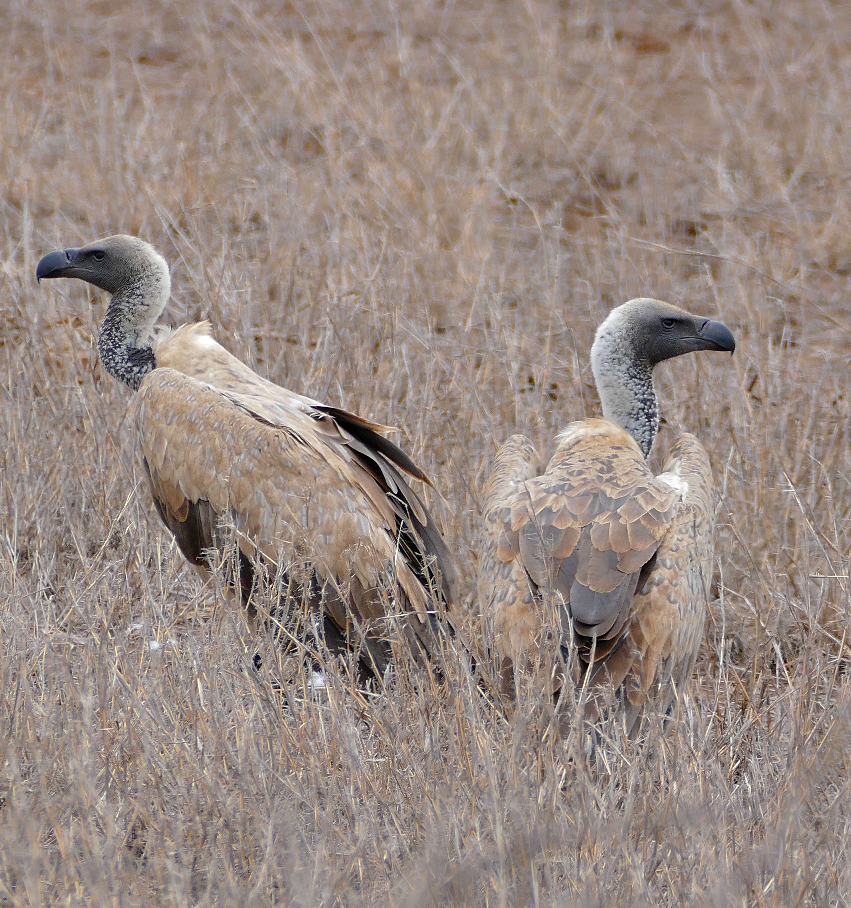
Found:
[[[145,262],[109,302],[97,339],[104,369],[128,388],[139,390],[148,372],[156,368],[154,325],[165,309],[171,279],[165,259]]]

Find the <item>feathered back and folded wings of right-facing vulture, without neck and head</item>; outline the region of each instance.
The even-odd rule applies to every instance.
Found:
[[[626,430],[586,419],[534,476],[534,449],[526,442],[518,458],[518,438],[497,453],[486,489],[479,594],[496,647],[516,665],[533,658],[546,598],[563,644],[576,645],[576,682],[626,681],[637,711],[694,665],[712,567],[706,451],[681,436],[655,477]]]

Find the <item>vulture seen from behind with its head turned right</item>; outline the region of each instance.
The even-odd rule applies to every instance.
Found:
[[[626,302],[591,348],[603,419],[568,425],[543,470],[522,435],[498,450],[478,601],[506,693],[548,655],[556,689],[566,666],[586,715],[615,704],[630,734],[648,706],[665,715],[673,705],[703,636],[715,509],[694,435],[676,438],[658,476],[647,465],[659,426],[653,370],[694,350],[735,349],[718,321],[658,300]]]

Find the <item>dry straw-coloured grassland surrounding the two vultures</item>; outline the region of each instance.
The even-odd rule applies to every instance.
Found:
[[[848,5],[6,0],[0,35],[0,905],[849,903]],[[404,427],[468,587],[496,445],[596,412],[606,311],[725,321],[732,360],[658,375],[657,448],[695,431],[719,490],[676,729],[592,774],[452,653],[283,676],[153,515],[102,294],[35,285],[112,232],[172,264],[165,321]]]

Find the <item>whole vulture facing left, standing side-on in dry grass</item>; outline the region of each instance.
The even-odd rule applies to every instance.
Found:
[[[138,393],[145,476],[191,564],[204,573],[222,562],[225,521],[249,614],[264,564],[323,616],[328,646],[355,649],[368,674],[385,670],[396,628],[417,658],[432,653],[457,569],[403,474],[429,480],[385,438],[388,427],[265,380],[207,321],[155,331],[171,279],[135,237],[50,252],[36,278],[78,278],[112,295],[97,349]]]

